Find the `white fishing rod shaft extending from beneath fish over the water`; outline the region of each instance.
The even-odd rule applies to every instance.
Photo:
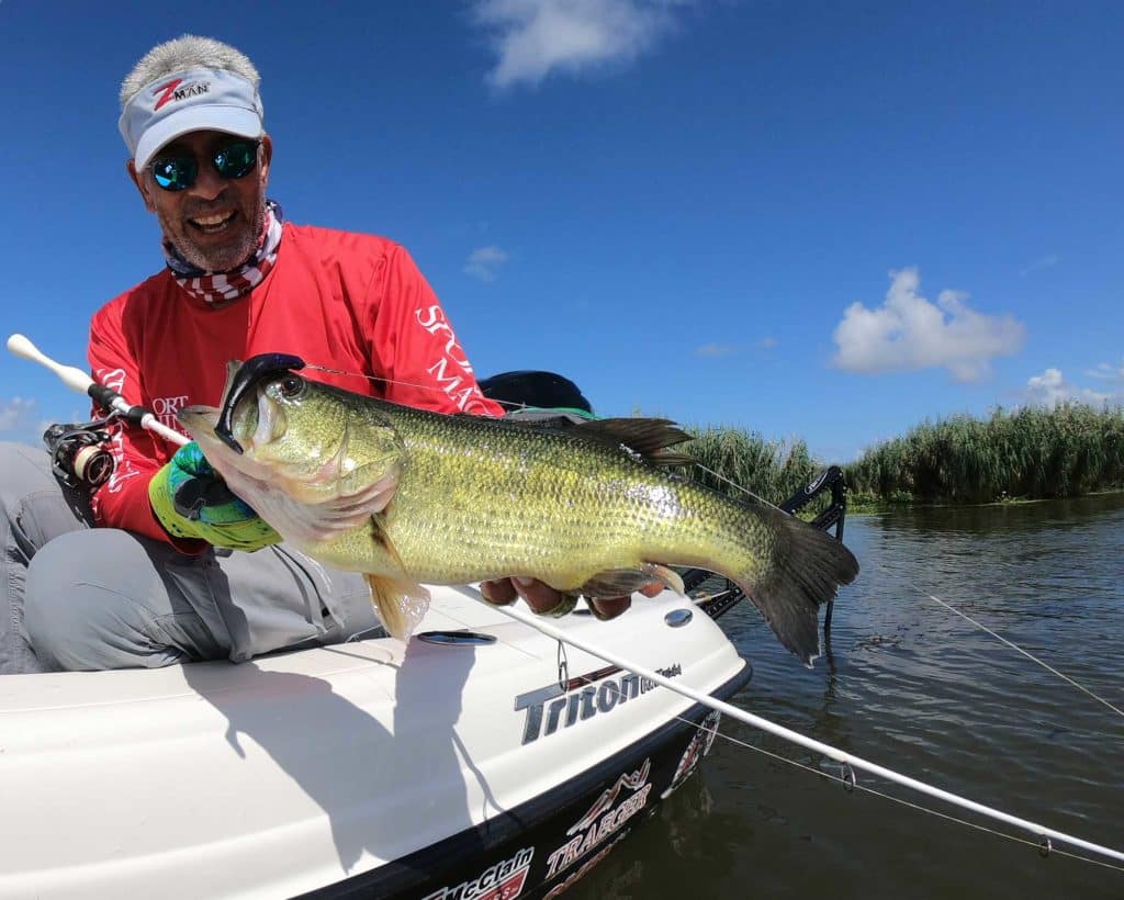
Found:
[[[490,609],[504,613],[508,618],[515,619],[516,621],[523,622],[524,625],[534,628],[547,637],[552,637],[564,644],[569,644],[578,649],[584,651],[586,653],[597,656],[600,660],[605,660],[607,663],[613,663],[613,665],[619,666],[626,672],[631,672],[634,675],[638,675],[643,679],[649,679],[650,681],[667,688],[670,691],[674,691],[688,700],[694,700],[696,703],[708,707],[709,709],[717,710],[726,716],[729,716],[736,721],[744,722],[753,728],[762,731],[768,731],[771,735],[782,738],[790,744],[797,744],[798,746],[805,747],[807,749],[821,753],[831,760],[837,762],[841,766],[841,779],[843,780],[844,787],[849,790],[853,790],[858,783],[854,770],[862,770],[872,775],[878,775],[879,778],[886,779],[887,781],[894,782],[895,784],[900,784],[909,790],[917,791],[918,793],[927,794],[928,797],[934,797],[939,800],[943,800],[962,809],[968,809],[977,812],[981,816],[986,816],[991,819],[1005,822],[1007,825],[1021,828],[1024,831],[1030,833],[1039,844],[1039,847],[1043,853],[1049,853],[1053,848],[1053,842],[1059,844],[1068,844],[1073,847],[1078,847],[1088,853],[1097,854],[1098,856],[1106,856],[1111,860],[1124,863],[1124,852],[1113,849],[1112,847],[1105,847],[1100,844],[1094,844],[1084,838],[1075,837],[1068,835],[1064,831],[1059,831],[1055,828],[1050,828],[1045,825],[1040,825],[1028,819],[1023,819],[1017,816],[1012,816],[1009,812],[1004,812],[1000,809],[995,809],[994,807],[985,806],[984,803],[978,803],[975,800],[969,800],[967,797],[961,797],[959,794],[952,793],[951,791],[945,791],[941,788],[935,788],[932,784],[926,784],[923,781],[917,781],[916,779],[909,778],[908,775],[903,775],[899,772],[895,772],[892,769],[887,769],[878,763],[872,763],[861,756],[855,756],[853,754],[846,753],[844,751],[837,749],[830,744],[824,744],[815,738],[806,737],[799,731],[794,731],[786,728],[782,725],[777,725],[776,722],[762,718],[761,716],[755,716],[752,712],[746,712],[743,709],[738,709],[731,703],[723,700],[718,700],[710,697],[708,693],[696,690],[688,684],[681,684],[673,681],[665,675],[661,675],[654,669],[649,669],[640,663],[633,662],[618,653],[599,647],[596,644],[583,640],[565,630],[559,628],[558,626],[551,625],[547,621],[536,617],[531,612],[525,612],[516,607],[507,606],[500,607],[488,601],[483,598],[483,594],[479,590],[472,588],[471,585],[457,587],[460,593],[469,597],[473,600],[478,600],[481,603],[487,603]]]

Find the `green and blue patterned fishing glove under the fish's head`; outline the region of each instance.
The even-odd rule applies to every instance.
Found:
[[[281,535],[230,492],[194,440],[180,447],[153,476],[148,500],[172,537],[247,552],[281,540]]]

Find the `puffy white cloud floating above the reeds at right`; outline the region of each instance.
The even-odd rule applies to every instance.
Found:
[[[891,271],[890,278],[881,307],[852,303],[835,327],[839,369],[877,374],[943,367],[958,381],[977,381],[991,360],[1022,347],[1026,328],[1013,317],[976,312],[961,291],[941,291],[932,303],[918,291],[916,269]]]

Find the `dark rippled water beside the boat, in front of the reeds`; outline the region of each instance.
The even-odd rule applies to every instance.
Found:
[[[1124,497],[853,517],[860,580],[808,671],[742,603],[742,709],[1022,818],[1124,849],[1124,717],[926,597],[1124,709]],[[836,764],[723,720],[722,733]],[[859,773],[860,783],[1013,829]],[[1025,836],[1022,835],[1021,836]],[[1124,864],[1116,864],[1124,869]],[[568,897],[1124,898],[1124,871],[828,781],[722,737],[700,772]]]

